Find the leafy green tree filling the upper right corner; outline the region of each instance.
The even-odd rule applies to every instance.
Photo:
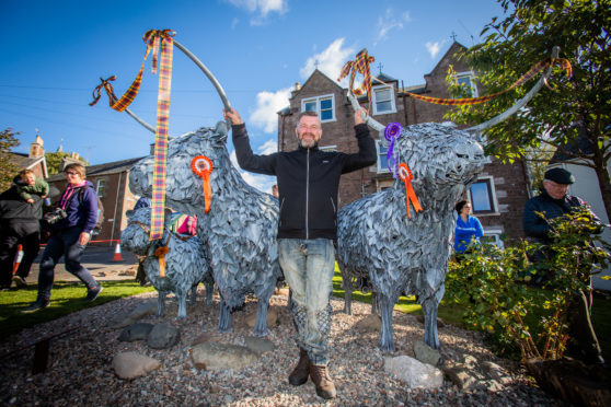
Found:
[[[486,93],[507,89],[554,46],[569,60],[573,75],[554,68],[551,89],[543,89],[524,108],[486,130],[486,152],[502,160],[523,159],[540,143],[566,152],[579,136],[591,149],[573,149],[569,156],[593,168],[611,219],[611,0],[497,0],[505,18],[485,25],[482,44],[461,57],[480,73]],[[457,89],[454,86],[454,89]],[[483,123],[523,96],[520,86],[487,104],[464,105],[448,114],[456,123]]]

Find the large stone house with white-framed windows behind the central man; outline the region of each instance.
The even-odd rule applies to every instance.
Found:
[[[411,97],[406,92],[426,94],[434,97],[450,97],[446,75],[450,65],[457,72],[457,80],[471,86],[473,96],[481,93],[473,70],[454,58],[464,48],[453,43],[437,66],[424,75],[425,83],[403,86],[400,81],[379,72],[372,75],[372,100],[370,114],[379,123],[400,123],[403,126],[419,123],[446,121],[443,115],[449,106],[434,105]],[[296,84],[289,98],[289,106],[278,112],[278,150],[297,148],[295,128],[299,114],[316,111],[321,117],[323,136],[321,149],[351,152],[357,150],[354,137],[354,109],[347,100],[347,89],[315,70],[300,85]],[[359,103],[367,108],[367,97]],[[339,182],[339,207],[362,196],[390,187],[394,179],[387,167],[387,150],[380,143],[380,135],[372,133],[378,149],[378,163],[342,176]],[[383,136],[382,136],[383,137]],[[481,220],[488,240],[502,244],[502,235],[509,239],[523,236],[522,209],[530,197],[527,168],[523,162],[502,164],[488,159],[484,171],[466,193],[473,202],[474,214]]]

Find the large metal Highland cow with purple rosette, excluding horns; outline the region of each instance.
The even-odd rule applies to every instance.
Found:
[[[392,310],[403,292],[417,293],[425,341],[439,348],[437,306],[443,296],[454,218],[452,209],[484,164],[483,149],[451,124],[410,126],[394,146],[397,162],[413,172],[423,207],[407,218],[402,182],[342,208],[337,214],[337,263],[350,313],[350,283],[369,278],[382,316],[379,347],[393,351]]]

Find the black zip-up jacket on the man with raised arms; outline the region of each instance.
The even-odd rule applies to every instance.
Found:
[[[276,175],[280,199],[278,239],[332,239],[337,235],[339,176],[376,163],[367,125],[355,126],[358,153],[298,148],[253,154],[245,125],[232,127],[238,163],[243,170]]]

